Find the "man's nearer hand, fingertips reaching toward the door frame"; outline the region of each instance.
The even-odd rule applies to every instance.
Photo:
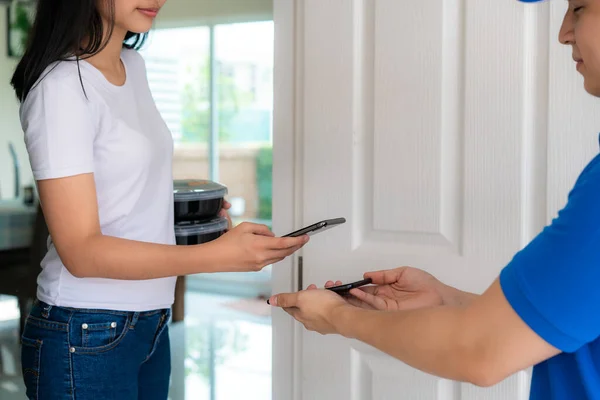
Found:
[[[322,335],[338,333],[333,324],[335,313],[341,308],[352,307],[340,295],[316,288],[272,296],[269,303],[283,308],[309,331]]]

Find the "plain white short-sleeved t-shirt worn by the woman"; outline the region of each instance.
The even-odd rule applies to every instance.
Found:
[[[83,60],[83,88],[75,61],[54,63],[42,74],[20,112],[33,176],[94,173],[104,235],[175,244],[171,133],[150,93],[143,58],[123,50],[121,59],[123,86]],[[148,311],[172,305],[175,280],[76,278],[49,238],[37,295],[56,306]]]

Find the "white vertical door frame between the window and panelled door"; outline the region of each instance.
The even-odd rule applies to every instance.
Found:
[[[302,223],[302,43],[301,2],[274,0],[273,232],[283,235]],[[301,256],[273,266],[273,293],[302,287]],[[272,309],[272,398],[300,399],[302,330]]]

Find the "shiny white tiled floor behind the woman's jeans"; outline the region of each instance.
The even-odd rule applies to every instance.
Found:
[[[18,312],[0,299],[0,399],[24,399]],[[271,398],[271,318],[263,301],[186,294],[185,323],[171,324],[171,400]]]

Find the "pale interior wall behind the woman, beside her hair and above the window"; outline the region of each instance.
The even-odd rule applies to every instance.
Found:
[[[168,0],[156,27],[258,21],[271,19],[272,16],[273,0]],[[17,61],[7,57],[6,23],[6,7],[0,6],[0,198],[13,195],[9,141],[17,147],[21,183],[32,179],[18,117],[19,105],[9,83]]]

